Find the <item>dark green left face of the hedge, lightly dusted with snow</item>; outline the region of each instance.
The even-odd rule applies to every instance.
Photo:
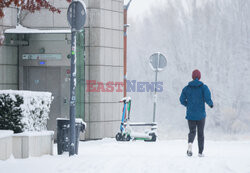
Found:
[[[23,98],[19,95],[0,94],[0,129],[23,131],[22,109]]]

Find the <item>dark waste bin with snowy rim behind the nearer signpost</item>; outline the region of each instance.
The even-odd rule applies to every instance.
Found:
[[[75,153],[78,154],[80,132],[84,132],[86,123],[82,119],[76,119],[75,123]],[[70,120],[66,118],[57,119],[57,153],[61,155],[63,152],[69,151],[70,143]]]

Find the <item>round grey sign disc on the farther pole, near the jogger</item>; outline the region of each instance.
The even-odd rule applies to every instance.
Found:
[[[149,57],[149,64],[154,71],[160,72],[167,66],[167,59],[160,52],[154,53]]]

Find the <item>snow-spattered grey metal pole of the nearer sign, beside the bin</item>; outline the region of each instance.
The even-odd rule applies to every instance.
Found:
[[[70,70],[70,146],[69,156],[75,154],[75,117],[76,117],[76,4],[72,6],[71,28],[71,70]]]

